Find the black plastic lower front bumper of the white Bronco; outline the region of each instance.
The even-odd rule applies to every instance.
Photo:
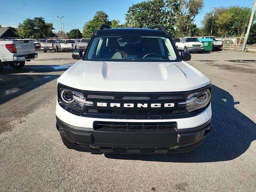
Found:
[[[107,132],[66,124],[56,117],[57,130],[68,148],[93,153],[183,153],[200,146],[212,128],[211,119],[195,128],[172,132]]]

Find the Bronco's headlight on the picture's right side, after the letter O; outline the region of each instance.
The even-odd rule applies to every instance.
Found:
[[[178,105],[186,105],[188,112],[203,108],[208,105],[211,100],[211,93],[208,89],[194,92],[188,95],[186,102],[180,102]]]

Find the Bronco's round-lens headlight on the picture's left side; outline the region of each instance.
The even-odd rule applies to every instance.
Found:
[[[84,106],[93,106],[93,102],[86,101],[82,93],[73,90],[60,89],[59,99],[64,106],[78,111],[82,111]]]

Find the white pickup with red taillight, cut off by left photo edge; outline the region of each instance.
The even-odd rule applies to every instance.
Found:
[[[22,68],[25,61],[38,57],[32,40],[0,40],[0,71],[4,66]]]

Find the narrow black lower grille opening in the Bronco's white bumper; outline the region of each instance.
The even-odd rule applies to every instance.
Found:
[[[170,132],[175,131],[177,122],[108,122],[95,121],[94,130],[115,132]]]

